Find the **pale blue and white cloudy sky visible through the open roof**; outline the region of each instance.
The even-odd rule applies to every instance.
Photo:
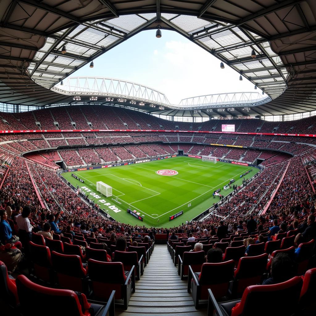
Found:
[[[89,63],[71,76],[98,76],[143,84],[164,93],[171,104],[198,95],[261,92],[239,73],[174,31],[142,31]]]

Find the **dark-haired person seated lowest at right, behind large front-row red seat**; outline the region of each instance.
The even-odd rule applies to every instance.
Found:
[[[293,277],[293,262],[288,254],[280,252],[271,260],[271,277],[264,280],[262,285],[285,282]]]

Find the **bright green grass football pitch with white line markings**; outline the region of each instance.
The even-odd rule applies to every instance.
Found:
[[[177,175],[163,176],[156,173],[161,169],[172,169]],[[72,185],[82,188],[89,198],[93,198],[100,208],[114,219],[131,225],[148,227],[173,227],[191,220],[219,200],[212,196],[214,190],[221,188],[224,196],[231,190],[223,190],[230,179],[241,184],[240,174],[250,167],[230,163],[204,162],[201,159],[185,156],[132,164],[120,167],[102,168],[73,172],[84,180],[81,183],[62,173]],[[258,172],[252,168],[245,178]],[[95,183],[102,181],[112,186],[112,197],[104,197],[96,191]],[[137,210],[144,217],[143,223],[128,214],[126,209]],[[184,211],[183,215],[169,222],[169,216]],[[159,219],[159,222],[158,222]]]

